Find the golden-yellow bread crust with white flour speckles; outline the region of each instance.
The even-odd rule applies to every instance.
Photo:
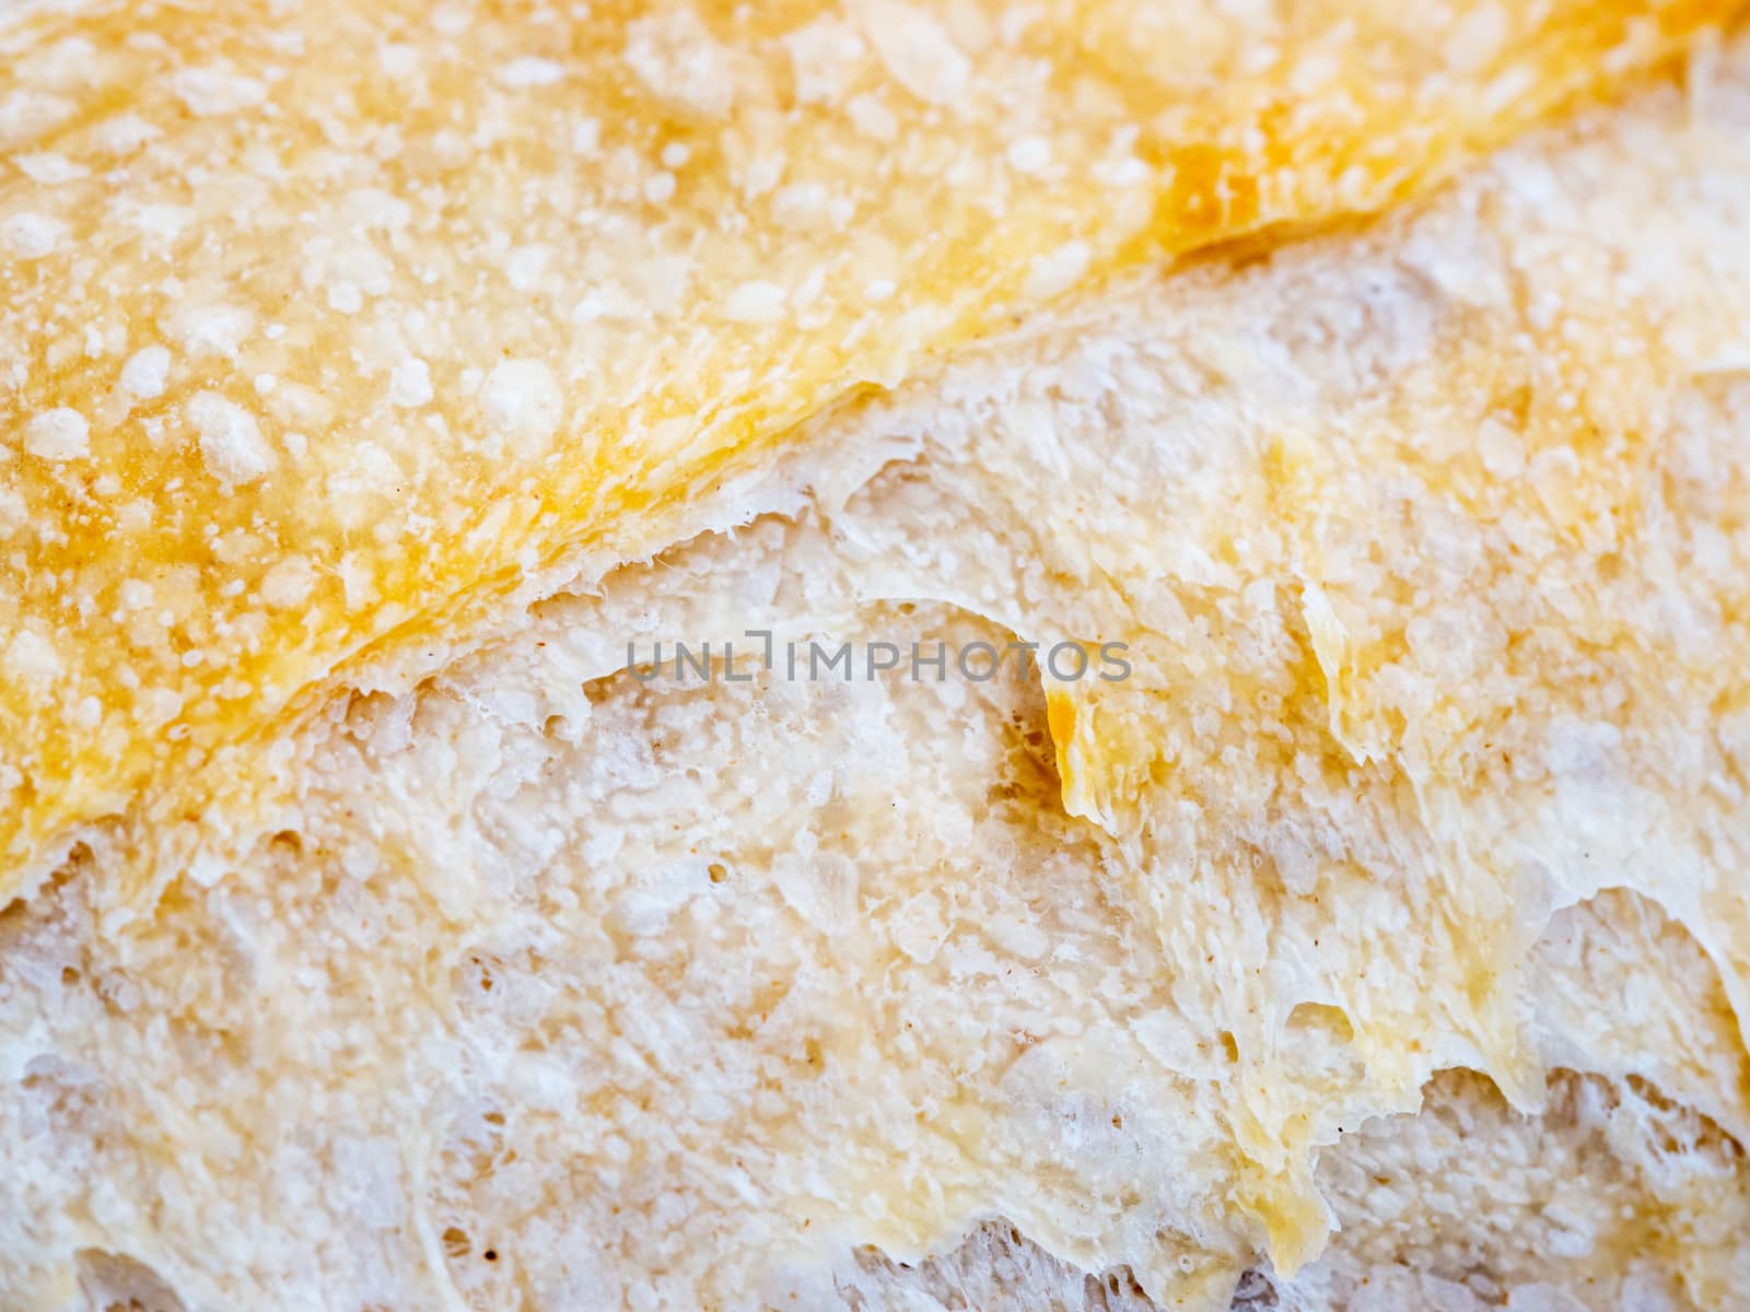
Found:
[[[835,399],[1374,208],[1734,7],[24,7],[7,889],[245,810],[262,735],[696,532]]]

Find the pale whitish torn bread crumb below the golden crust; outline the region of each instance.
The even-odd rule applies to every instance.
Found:
[[[145,920],[94,831],[0,1305],[1741,1305],[1746,222],[1738,44],[822,416]],[[1136,673],[621,668],[746,628]]]

